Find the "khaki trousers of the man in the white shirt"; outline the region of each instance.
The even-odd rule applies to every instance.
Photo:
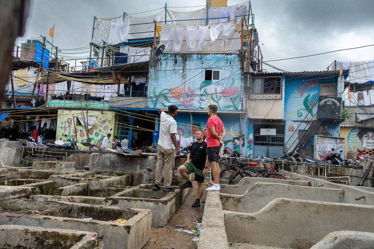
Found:
[[[165,149],[160,144],[157,147],[157,166],[156,166],[156,177],[155,183],[161,186],[162,169],[165,171],[164,187],[170,188],[171,178],[175,166],[175,150]]]

